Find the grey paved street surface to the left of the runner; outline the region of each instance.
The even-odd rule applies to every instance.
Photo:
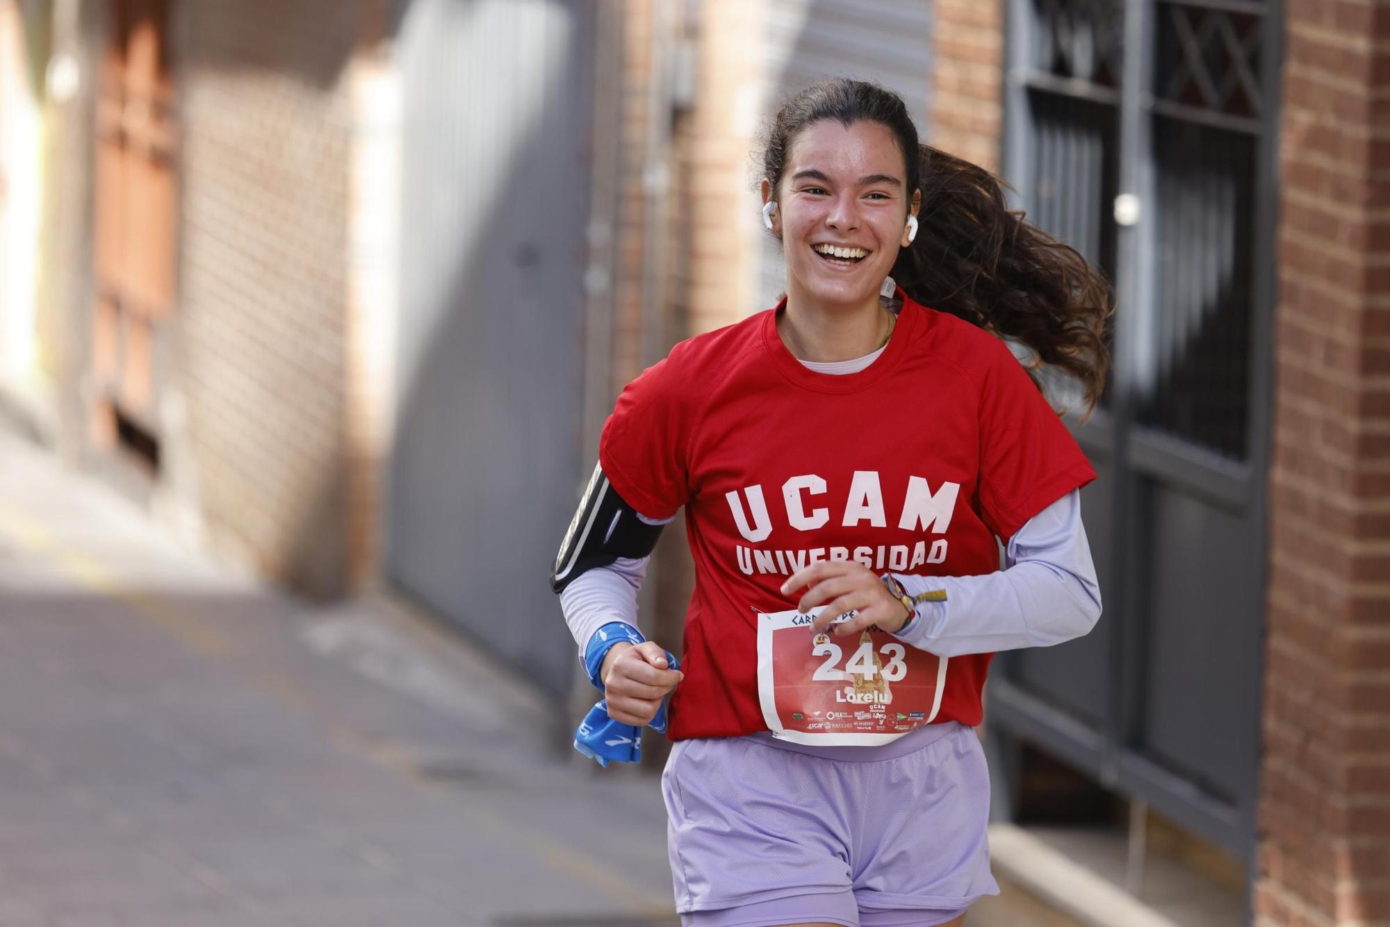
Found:
[[[656,781],[559,760],[446,638],[213,568],[0,434],[0,927],[676,923]]]

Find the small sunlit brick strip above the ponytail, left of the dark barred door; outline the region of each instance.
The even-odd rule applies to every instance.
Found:
[[[1004,4],[935,0],[929,145],[991,171],[1004,138]]]

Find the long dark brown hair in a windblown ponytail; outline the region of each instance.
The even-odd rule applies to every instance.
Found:
[[[796,136],[821,120],[885,126],[902,149],[909,197],[922,190],[917,236],[892,265],[898,285],[923,306],[1026,345],[1038,388],[1040,367],[1066,372],[1080,384],[1088,416],[1109,370],[1115,289],[1105,275],[1011,210],[998,177],[919,143],[902,97],[863,81],[812,83],[781,106],[763,150],[774,197]]]

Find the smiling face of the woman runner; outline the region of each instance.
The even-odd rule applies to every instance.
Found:
[[[877,306],[883,278],[908,245],[909,204],[916,211],[905,188],[902,149],[887,126],[821,120],[802,129],[777,192],[788,293],[826,309]],[[763,181],[763,199],[770,195]]]

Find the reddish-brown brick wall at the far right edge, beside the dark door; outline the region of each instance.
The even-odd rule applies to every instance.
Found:
[[[1258,924],[1390,924],[1390,3],[1287,7]]]

